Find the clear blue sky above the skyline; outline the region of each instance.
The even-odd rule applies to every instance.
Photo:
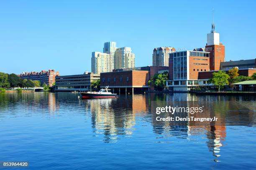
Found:
[[[152,65],[154,47],[204,47],[212,8],[226,60],[256,58],[255,1],[1,0],[0,72],[82,74],[108,41]]]

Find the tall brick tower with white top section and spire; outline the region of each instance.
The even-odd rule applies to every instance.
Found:
[[[220,70],[220,62],[225,61],[225,46],[220,43],[220,34],[215,31],[214,22],[211,33],[207,34],[205,51],[210,52],[210,70]]]

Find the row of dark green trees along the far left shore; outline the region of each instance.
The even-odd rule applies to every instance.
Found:
[[[15,74],[0,72],[0,88],[13,89],[14,87],[29,88],[40,87],[40,81],[22,79]]]

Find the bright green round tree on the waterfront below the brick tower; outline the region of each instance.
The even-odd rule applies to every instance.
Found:
[[[208,83],[216,85],[220,91],[220,88],[228,84],[228,79],[228,74],[226,74],[224,71],[218,71],[212,73],[212,78],[208,81]]]

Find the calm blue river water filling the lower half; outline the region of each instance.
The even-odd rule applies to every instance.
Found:
[[[0,161],[26,160],[34,170],[256,167],[256,97],[77,96],[0,94]],[[156,121],[155,107],[177,103],[205,105],[205,114],[221,121],[211,126]]]

